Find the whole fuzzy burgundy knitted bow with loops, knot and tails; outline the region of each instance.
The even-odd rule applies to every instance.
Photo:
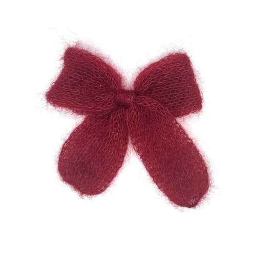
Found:
[[[175,118],[197,112],[202,98],[191,62],[175,53],[150,64],[134,90],[98,56],[70,47],[49,103],[86,115],[64,143],[58,170],[81,195],[103,192],[122,166],[130,135],[134,149],[170,201],[195,207],[209,187],[207,166]]]

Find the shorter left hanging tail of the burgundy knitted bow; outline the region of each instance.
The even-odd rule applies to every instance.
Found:
[[[87,116],[70,134],[59,156],[62,180],[80,195],[103,192],[122,166],[128,130],[120,111],[108,117]]]

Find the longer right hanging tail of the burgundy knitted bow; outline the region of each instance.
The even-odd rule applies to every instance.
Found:
[[[167,109],[156,102],[143,104],[130,111],[129,131],[135,150],[172,202],[195,207],[209,187],[201,154]]]

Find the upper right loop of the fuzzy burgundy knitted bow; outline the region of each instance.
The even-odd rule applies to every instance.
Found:
[[[202,98],[189,57],[175,53],[147,66],[136,78],[138,95],[152,98],[182,117],[202,108]]]

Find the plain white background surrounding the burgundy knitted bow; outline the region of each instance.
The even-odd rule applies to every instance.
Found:
[[[6,1],[0,7],[0,255],[256,255],[254,1]],[[171,49],[191,56],[204,95],[183,120],[214,188],[177,209],[129,150],[102,195],[62,183],[58,152],[81,117],[47,105],[64,47],[80,40],[129,79]]]

